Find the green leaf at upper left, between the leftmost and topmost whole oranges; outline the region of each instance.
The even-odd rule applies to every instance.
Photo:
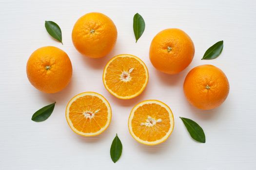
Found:
[[[61,42],[61,44],[63,45],[62,43],[62,35],[61,35],[61,30],[59,28],[59,25],[56,24],[55,22],[53,21],[45,21],[45,24],[44,24],[47,32],[54,38],[56,39],[57,41]]]

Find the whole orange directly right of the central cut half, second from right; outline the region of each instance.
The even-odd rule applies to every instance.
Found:
[[[168,51],[171,47],[171,51]],[[166,74],[177,74],[191,63],[194,43],[184,31],[171,28],[159,32],[152,40],[149,58],[152,65]]]

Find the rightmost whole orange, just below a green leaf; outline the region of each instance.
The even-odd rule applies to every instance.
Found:
[[[225,101],[229,93],[229,82],[219,68],[201,65],[189,71],[183,90],[192,105],[198,109],[210,110]]]

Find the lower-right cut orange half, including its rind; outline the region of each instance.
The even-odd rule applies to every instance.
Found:
[[[173,132],[173,113],[165,103],[147,100],[138,103],[131,111],[128,127],[139,143],[157,145]]]

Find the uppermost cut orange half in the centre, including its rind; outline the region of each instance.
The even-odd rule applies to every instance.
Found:
[[[138,57],[120,54],[104,68],[103,84],[118,99],[138,96],[148,84],[148,68]]]

